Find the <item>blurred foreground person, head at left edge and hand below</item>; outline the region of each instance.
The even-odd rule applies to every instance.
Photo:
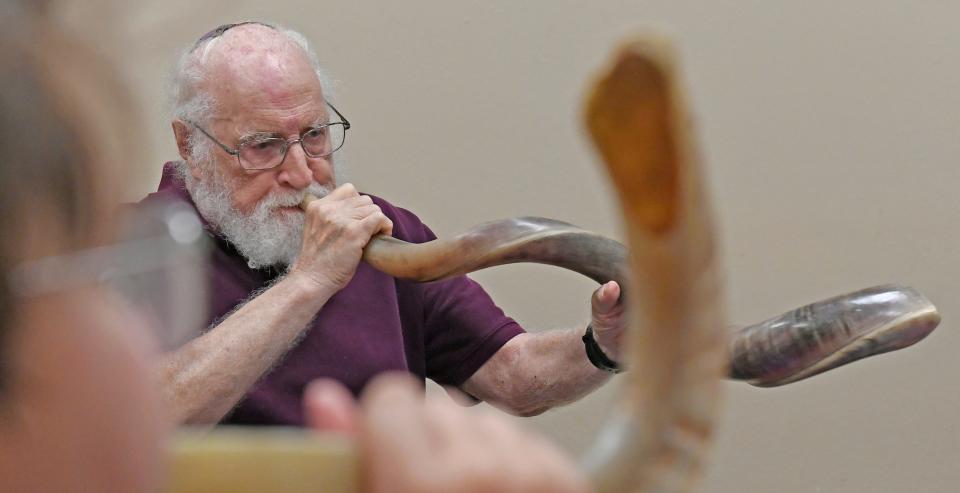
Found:
[[[161,459],[169,423],[150,367],[162,325],[146,323],[133,300],[102,281],[109,272],[141,288],[131,292],[163,292],[163,274],[184,258],[149,266],[121,260],[132,245],[169,244],[113,236],[111,192],[122,183],[116,171],[135,128],[123,87],[47,19],[9,4],[0,11],[8,14],[0,17],[0,491],[168,491]],[[418,398],[422,390],[409,380],[377,377],[360,403],[329,380],[307,388],[310,425],[354,436],[358,491],[589,491],[545,440],[502,416]],[[203,481],[176,491],[208,491]]]

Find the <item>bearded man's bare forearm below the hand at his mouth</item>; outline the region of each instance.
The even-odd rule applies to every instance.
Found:
[[[214,424],[297,342],[336,292],[287,275],[219,325],[161,358],[160,384],[177,424]]]

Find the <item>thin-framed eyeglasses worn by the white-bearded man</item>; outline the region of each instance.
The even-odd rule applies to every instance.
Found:
[[[299,138],[292,140],[272,134],[255,135],[241,141],[236,149],[227,147],[196,123],[190,120],[187,120],[187,122],[193,125],[193,128],[199,130],[200,133],[206,135],[224,152],[236,156],[240,167],[243,169],[262,171],[283,164],[283,160],[287,157],[287,150],[294,144],[300,144],[303,153],[310,158],[327,157],[343,147],[347,138],[347,130],[350,129],[350,122],[332,104],[327,103],[327,106],[337,114],[340,121],[321,123],[310,127],[304,130]]]

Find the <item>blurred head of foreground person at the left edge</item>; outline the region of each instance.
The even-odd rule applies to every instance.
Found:
[[[15,20],[0,26],[0,490],[148,491],[164,427],[143,324],[94,280],[14,282],[111,240],[127,106],[90,53]]]

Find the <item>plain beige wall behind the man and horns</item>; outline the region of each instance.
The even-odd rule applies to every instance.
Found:
[[[888,282],[925,291],[944,316],[913,348],[812,380],[726,384],[702,489],[960,487],[960,4],[169,0],[74,2],[64,15],[117,57],[141,105],[131,199],[176,157],[163,83],[179,51],[220,23],[266,19],[304,32],[339,81],[349,179],[441,236],[540,215],[619,237],[581,101],[619,39],[666,27],[722,228],[731,322]],[[575,275],[474,277],[530,330],[587,318],[593,286]],[[615,394],[522,421],[580,453]]]

